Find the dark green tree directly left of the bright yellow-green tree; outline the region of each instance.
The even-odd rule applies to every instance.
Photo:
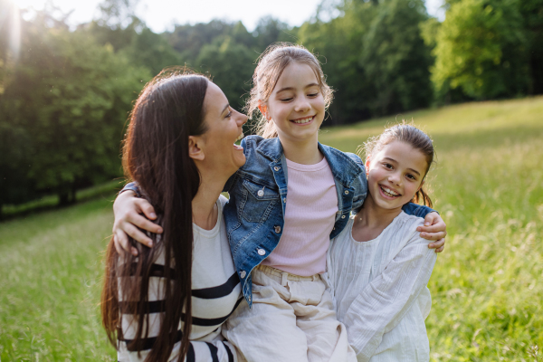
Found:
[[[360,56],[375,90],[368,100],[374,116],[423,108],[432,100],[432,57],[419,25],[427,18],[422,0],[388,0],[377,6]]]

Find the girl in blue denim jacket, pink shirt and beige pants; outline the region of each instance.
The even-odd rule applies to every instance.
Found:
[[[332,90],[308,50],[269,47],[253,83],[247,110],[260,110],[261,136],[243,138],[246,163],[224,187],[226,232],[247,303],[226,321],[224,337],[249,361],[355,361],[321,274],[330,239],[366,198],[364,165],[319,144]],[[443,235],[432,211],[405,207],[429,214],[426,224]]]

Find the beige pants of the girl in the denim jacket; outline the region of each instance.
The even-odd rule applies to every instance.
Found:
[[[252,271],[252,310],[243,302],[223,334],[249,362],[357,360],[319,274],[259,265]]]

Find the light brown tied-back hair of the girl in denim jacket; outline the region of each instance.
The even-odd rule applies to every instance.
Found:
[[[332,90],[326,83],[326,78],[315,55],[298,44],[275,43],[262,52],[254,74],[252,74],[252,89],[245,105],[245,111],[249,117],[252,118],[252,114],[258,110],[258,107],[270,99],[271,92],[282,72],[291,62],[307,64],[315,72],[320,91],[324,97],[325,107],[328,110],[333,98]],[[262,113],[255,123],[254,131],[263,138],[277,137],[275,124],[268,121]]]

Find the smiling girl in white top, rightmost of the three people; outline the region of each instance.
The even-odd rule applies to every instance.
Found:
[[[416,231],[424,219],[402,206],[432,206],[423,190],[432,140],[401,124],[367,142],[366,152],[369,195],[329,249],[338,319],[358,361],[428,361],[424,319],[432,299],[426,284],[435,253]]]

